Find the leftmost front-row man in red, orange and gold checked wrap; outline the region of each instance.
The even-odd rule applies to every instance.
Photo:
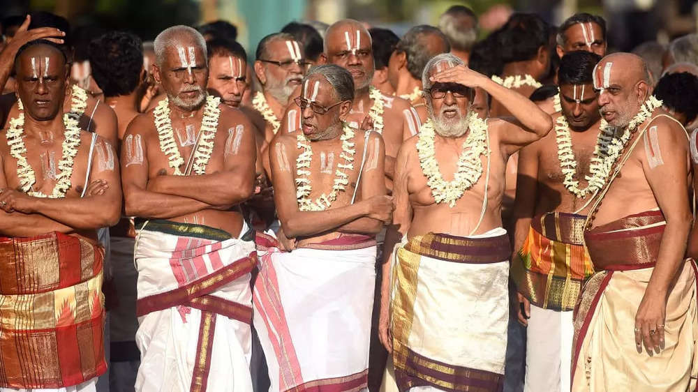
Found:
[[[26,36],[23,26],[6,50]],[[0,391],[95,391],[107,368],[96,229],[119,219],[116,154],[64,115],[57,45],[22,46],[15,72],[20,110],[0,137]]]

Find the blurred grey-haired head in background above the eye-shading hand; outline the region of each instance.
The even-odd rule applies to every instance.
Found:
[[[448,38],[451,53],[468,65],[477,40],[477,15],[466,6],[452,6],[438,18],[438,28]]]

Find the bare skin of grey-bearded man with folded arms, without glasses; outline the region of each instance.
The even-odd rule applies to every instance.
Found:
[[[201,128],[208,69],[203,49],[193,36],[180,33],[174,40],[175,44],[165,49],[165,61],[154,66],[154,76],[170,97],[174,139],[181,157],[187,162],[193,153],[193,145],[182,145],[181,135],[187,127],[197,132]],[[186,48],[184,59],[180,58],[178,47]],[[189,47],[192,47],[191,51]],[[191,73],[188,72],[190,64]],[[214,148],[206,173],[201,175],[172,175],[174,169],[168,163],[168,156],[161,151],[152,110],[131,121],[124,140],[129,135],[133,135],[132,140],[140,137],[143,163],[129,162],[126,149],[121,149],[122,183],[128,215],[197,223],[223,229],[234,237],[240,234],[242,214],[234,207],[253,193],[255,135],[242,112],[223,104],[218,105],[218,109],[221,115],[212,140]],[[239,136],[236,134],[238,128]],[[238,141],[231,150],[229,139],[235,140],[236,136]],[[181,170],[184,169],[182,165]]]

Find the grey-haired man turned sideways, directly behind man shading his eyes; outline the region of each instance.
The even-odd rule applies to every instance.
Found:
[[[439,29],[422,24],[405,33],[388,61],[388,81],[395,94],[410,101],[422,122],[427,117],[422,93],[424,66],[433,56],[450,50],[448,38]]]

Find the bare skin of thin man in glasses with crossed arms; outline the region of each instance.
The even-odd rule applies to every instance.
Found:
[[[324,76],[311,75],[307,84],[309,88],[306,96],[303,89],[300,98],[307,103],[314,103],[321,107],[329,108],[325,114],[313,112],[311,105],[302,109],[302,131],[311,140],[313,158],[309,176],[312,183],[311,199],[319,197],[322,193],[331,192],[336,176],[336,170],[322,171],[320,156],[336,157],[334,165],[343,162],[340,154],[343,152],[340,136],[343,133],[341,121],[346,120],[351,108],[350,101],[341,101],[336,98],[332,84],[329,84]],[[316,87],[317,86],[317,87]],[[317,93],[315,94],[315,91]],[[314,98],[313,98],[314,97]],[[331,108],[330,108],[331,107]],[[297,148],[297,132],[279,134],[272,142],[269,151],[269,159],[272,166],[272,181],[274,183],[274,201],[276,204],[283,234],[289,240],[283,240],[286,249],[296,246],[304,246],[311,243],[320,243],[329,239],[335,239],[341,233],[353,232],[375,235],[388,223],[392,216],[392,198],[385,196],[386,190],[383,183],[383,162],[385,150],[380,136],[369,135],[368,145],[378,145],[377,149],[366,151],[367,162],[375,162],[375,165],[364,166],[357,202],[351,204],[351,198],[355,191],[359,175],[359,159],[364,151],[364,131],[357,130],[354,137],[355,163],[353,169],[348,169],[349,185],[346,190],[340,192],[332,207],[325,211],[299,211],[296,199],[296,158],[302,151]],[[336,167],[336,166],[335,166]]]

